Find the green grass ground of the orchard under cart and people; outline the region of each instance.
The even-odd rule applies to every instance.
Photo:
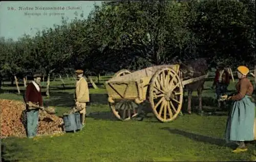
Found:
[[[101,83],[108,77],[102,77]],[[56,106],[57,115],[73,105],[75,81],[65,79],[51,83],[50,98],[45,103]],[[205,111],[215,107],[212,81],[205,83]],[[231,83],[229,90],[234,90]],[[0,98],[23,100],[16,87],[2,87]],[[23,87],[21,87],[24,90]],[[44,90],[43,90],[44,91]],[[143,121],[117,121],[110,112],[106,91],[90,88],[91,103],[87,125],[76,133],[37,140],[8,138],[2,140],[2,156],[6,161],[248,161],[255,159],[254,145],[245,153],[231,152],[224,140],[226,115],[179,116],[170,123],[160,123],[153,114]],[[194,93],[196,96],[196,92]],[[186,100],[184,101],[186,107]],[[192,106],[198,105],[196,97]],[[4,117],[3,117],[4,118]]]

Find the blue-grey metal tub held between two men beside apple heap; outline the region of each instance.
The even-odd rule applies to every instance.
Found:
[[[64,130],[65,131],[76,131],[76,117],[75,114],[63,115]]]

